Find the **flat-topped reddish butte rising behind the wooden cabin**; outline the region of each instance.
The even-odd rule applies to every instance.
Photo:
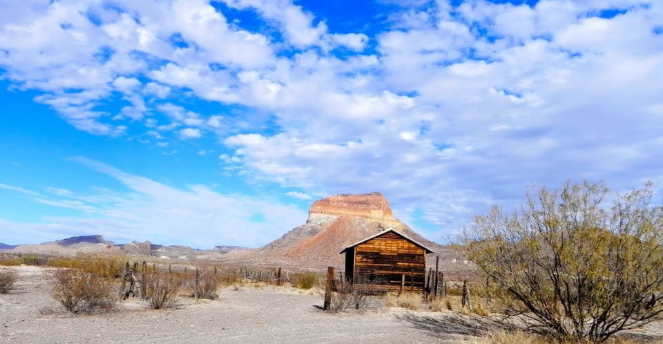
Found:
[[[434,250],[428,256],[428,266],[434,267],[435,257],[440,256],[443,271],[466,269],[465,260],[452,249],[423,238],[395,218],[381,193],[334,195],[316,200],[305,224],[260,249],[235,251],[224,258],[249,265],[340,268],[345,261],[341,250],[390,228]]]

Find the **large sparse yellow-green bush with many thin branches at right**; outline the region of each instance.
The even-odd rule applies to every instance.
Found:
[[[566,182],[528,191],[519,211],[475,217],[463,248],[506,296],[507,314],[595,342],[662,318],[663,207],[651,183],[612,205],[608,196],[603,182]]]

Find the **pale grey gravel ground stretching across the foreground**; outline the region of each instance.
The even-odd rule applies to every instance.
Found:
[[[325,312],[319,294],[269,285],[220,289],[217,300],[183,297],[165,310],[129,298],[108,312],[70,314],[50,296],[48,268],[11,269],[19,282],[0,294],[1,343],[459,343],[493,327],[479,316],[382,305]],[[655,324],[628,336],[660,342],[663,331]]]

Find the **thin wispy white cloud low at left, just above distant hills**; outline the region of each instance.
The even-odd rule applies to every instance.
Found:
[[[79,161],[115,178],[130,191],[117,193],[96,189],[90,194],[70,193],[68,199],[63,200],[57,195],[46,197],[19,187],[5,186],[5,189],[33,196],[35,202],[81,211],[86,215],[83,218],[46,216],[41,223],[0,220],[3,233],[21,233],[20,236],[5,236],[8,241],[25,243],[26,238],[48,236],[55,240],[72,235],[102,234],[118,243],[152,240],[162,245],[191,245],[205,249],[214,245],[257,247],[306,220],[304,211],[282,205],[272,198],[226,195],[202,185],[176,189],[100,162]],[[263,221],[251,220],[255,209],[260,209]],[[31,236],[30,233],[39,235]]]

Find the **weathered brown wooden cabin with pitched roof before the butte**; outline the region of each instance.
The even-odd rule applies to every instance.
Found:
[[[423,292],[426,254],[433,251],[387,229],[345,247],[345,278],[355,288],[376,292]],[[405,276],[405,283],[403,283]]]

